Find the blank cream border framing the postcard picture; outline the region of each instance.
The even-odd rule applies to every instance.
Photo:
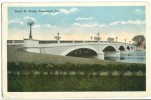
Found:
[[[146,91],[144,92],[8,92],[7,91],[7,8],[30,6],[146,6]],[[2,81],[4,98],[109,98],[109,97],[146,97],[151,94],[151,67],[150,67],[150,14],[148,2],[93,2],[93,3],[3,3],[2,4]]]

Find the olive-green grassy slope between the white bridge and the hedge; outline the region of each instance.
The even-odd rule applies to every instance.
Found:
[[[7,46],[8,62],[34,62],[38,63],[87,63],[87,64],[120,64],[119,62],[98,60],[92,58],[79,58],[69,56],[58,56],[50,54],[30,53],[23,50],[22,46]]]

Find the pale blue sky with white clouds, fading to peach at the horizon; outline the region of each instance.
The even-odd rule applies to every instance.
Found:
[[[33,39],[91,40],[100,33],[102,41],[118,37],[119,42],[132,41],[146,34],[145,6],[68,6],[9,7],[8,39],[29,38],[29,20]]]

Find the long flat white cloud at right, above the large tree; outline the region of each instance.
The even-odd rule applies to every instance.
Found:
[[[142,25],[145,24],[145,21],[141,21],[141,20],[128,20],[128,21],[115,21],[110,23],[109,25],[113,26],[113,25],[125,25],[125,24],[131,24],[131,25]]]

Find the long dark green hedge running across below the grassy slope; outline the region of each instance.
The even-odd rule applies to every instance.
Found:
[[[56,71],[62,75],[63,72],[73,71],[79,75],[80,72],[84,72],[85,75],[90,75],[92,73],[99,74],[101,71],[108,71],[109,75],[112,75],[113,71],[119,71],[122,74],[126,71],[137,72],[142,71],[143,73],[146,72],[145,64],[108,64],[108,65],[101,65],[101,64],[74,64],[74,63],[64,63],[64,64],[34,64],[34,63],[25,63],[25,62],[9,62],[8,63],[8,71],[16,74],[20,72],[21,74],[24,72],[33,74],[35,71],[40,72],[42,75],[44,72],[55,73]],[[121,75],[122,75],[121,74]]]

